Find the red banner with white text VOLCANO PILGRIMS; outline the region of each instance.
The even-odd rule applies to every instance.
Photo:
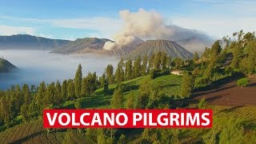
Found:
[[[212,110],[43,110],[44,128],[211,128]]]

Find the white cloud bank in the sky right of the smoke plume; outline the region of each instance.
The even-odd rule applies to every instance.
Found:
[[[173,18],[172,22],[182,27],[205,31],[214,38],[232,35],[238,30],[254,31],[255,18]]]

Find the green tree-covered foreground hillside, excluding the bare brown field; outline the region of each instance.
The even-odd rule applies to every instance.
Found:
[[[105,74],[41,82],[39,86],[11,86],[0,91],[0,139],[6,142],[45,141],[55,143],[254,143],[255,106],[213,106],[202,98],[192,103],[194,90],[217,86],[218,80],[255,74],[255,34],[234,34],[214,42],[199,58],[168,58],[164,52],[106,66]],[[231,60],[230,60],[231,59]],[[182,76],[170,70],[183,70]],[[241,78],[241,77],[239,77]],[[246,83],[247,82],[247,83]],[[246,86],[248,78],[238,80]],[[214,110],[212,129],[42,129],[42,110],[65,109],[177,109]],[[19,124],[19,125],[18,125]],[[17,126],[18,125],[18,126]],[[19,133],[19,132],[22,133]],[[27,137],[28,135],[31,135]],[[18,138],[18,139],[17,139]],[[23,138],[23,139],[22,139]],[[24,139],[25,138],[25,139]],[[27,138],[27,139],[26,139]]]

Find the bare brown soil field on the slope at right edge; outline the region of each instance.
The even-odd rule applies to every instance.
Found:
[[[250,85],[239,87],[236,81],[227,82],[210,90],[194,92],[194,100],[206,98],[206,101],[220,106],[256,105],[256,80],[250,79]]]

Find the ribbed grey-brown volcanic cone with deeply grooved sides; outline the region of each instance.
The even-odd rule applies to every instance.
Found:
[[[190,51],[186,50],[182,46],[179,46],[176,42],[169,40],[147,40],[124,58],[134,59],[138,56],[143,57],[145,55],[149,57],[151,54],[158,53],[158,51],[166,52],[166,54],[171,58],[189,59],[193,57],[193,54],[190,53]]]

